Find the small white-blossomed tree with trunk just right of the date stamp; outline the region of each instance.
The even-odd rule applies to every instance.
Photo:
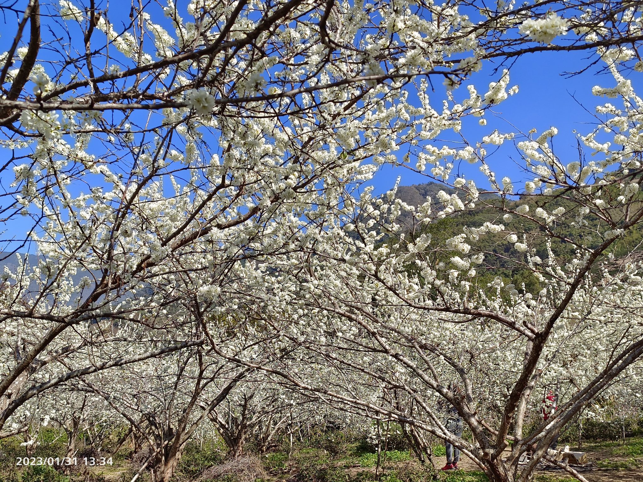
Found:
[[[139,472],[148,469],[155,482],[167,482],[195,431],[248,371],[194,348],[122,367],[111,377],[81,377],[79,389],[102,397],[131,427]]]

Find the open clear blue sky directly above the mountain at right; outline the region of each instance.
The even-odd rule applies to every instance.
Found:
[[[518,58],[516,64],[511,67],[509,86],[518,85],[520,91],[515,96],[509,97],[500,105],[485,114],[487,125],[481,127],[477,118],[471,118],[463,123],[462,132],[468,139],[476,140],[498,129],[500,132],[516,132],[517,127],[522,132],[529,132],[530,129],[537,129],[538,132],[554,126],[558,129],[554,137],[554,152],[561,157],[563,164],[578,159],[576,134],[586,135],[592,131],[593,125],[597,122],[592,116],[597,105],[608,102],[606,98],[600,98],[592,94],[594,85],[601,87],[613,87],[615,80],[611,74],[601,73],[605,64],[600,61],[588,71],[581,75],[564,76],[565,72],[573,72],[583,69],[590,62],[596,59],[593,56],[588,60],[590,52],[542,52],[525,55]],[[476,86],[478,93],[485,93],[489,82],[498,80],[500,71],[493,74],[494,65],[487,62],[482,71],[476,73],[471,82]],[[631,71],[625,74],[631,79],[635,91],[643,91],[643,73]],[[466,85],[466,84],[464,84]],[[467,96],[466,88],[459,87],[454,91],[456,100]],[[435,85],[436,93],[432,98],[439,99],[433,102],[439,105],[441,99],[440,88],[442,85]],[[619,99],[610,99],[609,102],[619,105]],[[589,111],[589,112],[588,112]],[[448,139],[448,133],[440,136],[440,139]],[[520,139],[517,139],[520,140]],[[435,145],[443,145],[439,139],[434,141]],[[496,173],[497,179],[508,175],[512,181],[527,181],[529,178],[520,170],[516,163],[520,163],[520,155],[511,142],[505,142],[493,156],[487,159],[492,170]],[[484,175],[478,170],[479,165],[462,163],[462,171],[466,173],[467,179],[473,179],[476,185],[488,187],[489,183]],[[431,181],[426,175],[417,174],[405,168],[392,168],[386,166],[381,168],[374,177],[372,186],[375,186],[374,193],[379,194],[390,190],[395,184],[397,177],[401,177],[400,185],[422,184]]]

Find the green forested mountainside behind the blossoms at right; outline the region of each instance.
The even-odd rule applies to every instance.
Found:
[[[438,200],[438,193],[440,191],[444,191],[448,195],[458,193],[460,197],[464,197],[464,192],[461,190],[433,182],[413,186],[399,186],[396,197],[415,208],[424,204],[426,199],[430,198],[434,209],[439,209],[441,203]],[[452,213],[448,217],[421,229],[417,229],[417,226],[413,227],[412,215],[409,213],[402,213],[398,221],[406,225],[407,229],[405,230],[410,233],[410,239],[428,232],[431,233],[436,242],[444,242],[444,240],[455,235],[466,233],[467,228],[477,228],[485,222],[502,224],[505,227],[511,227],[512,233],[518,233],[518,242],[526,239],[527,244],[536,246],[536,252],[531,254],[534,254],[540,260],[547,260],[549,257],[547,252],[548,241],[550,241],[550,247],[554,254],[563,255],[565,260],[572,260],[575,256],[582,256],[583,246],[588,249],[597,247],[604,240],[604,233],[610,231],[610,229],[615,229],[615,226],[608,226],[605,219],[606,214],[611,217],[616,227],[626,215],[622,210],[601,211],[597,208],[597,210],[590,211],[579,217],[577,204],[574,201],[570,201],[570,197],[566,195],[565,190],[559,190],[557,194],[554,192],[554,195],[545,197],[534,193],[521,196],[519,199],[503,199],[496,194],[481,193],[475,208]],[[604,193],[604,197],[610,204],[613,201],[611,197],[616,198],[617,196],[618,194],[608,191]],[[529,206],[528,213],[530,217],[538,217],[534,214],[538,208],[545,208],[548,212],[554,211],[556,208],[562,208],[562,210],[560,211],[561,214],[547,226],[547,229],[543,229],[538,223],[528,218],[511,214],[520,205]],[[640,258],[643,255],[643,250],[640,249],[642,240],[642,229],[635,227],[624,231],[622,238],[608,250],[609,253],[613,254],[613,263],[604,267],[596,266],[593,272],[598,272],[601,268],[614,271],[619,269],[623,263]],[[520,267],[521,260],[527,263],[527,253],[518,252],[514,247],[514,242],[507,240],[507,234],[503,231],[487,235],[478,242],[475,240],[469,240],[468,242],[473,249],[489,254],[485,256],[485,270],[480,273],[481,280],[484,281],[481,284],[485,284],[486,281],[493,279],[495,276],[502,276],[505,284],[512,283],[516,285],[517,289],[520,289],[522,283],[525,283],[525,289],[528,292],[536,293],[541,289],[540,283],[531,272],[526,267],[525,269]],[[449,262],[450,256],[448,253],[436,255],[435,261],[436,263]]]

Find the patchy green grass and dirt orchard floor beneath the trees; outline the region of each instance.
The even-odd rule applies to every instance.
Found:
[[[15,467],[15,454],[23,448],[0,443],[0,482],[129,482],[136,473],[124,454],[113,457],[113,465],[104,467],[77,467],[71,476],[65,476],[51,467]],[[377,467],[377,454],[365,445],[340,441],[318,441],[314,446],[296,445],[289,457],[287,452],[273,451],[261,456],[265,469],[260,479],[267,482],[429,482],[435,470],[422,465],[406,449],[391,450],[381,454]],[[41,447],[41,451],[52,447]],[[643,437],[628,438],[622,442],[584,442],[582,449],[592,461],[592,472],[584,472],[591,482],[643,482]],[[38,451],[37,451],[38,452]],[[435,447],[435,464],[444,465],[444,447]],[[38,455],[35,454],[36,456]],[[190,447],[185,452],[176,475],[176,482],[199,479],[199,474],[224,460],[224,447],[217,444]],[[437,472],[441,482],[484,482],[484,473],[471,461],[462,460],[464,470]],[[377,472],[377,473],[376,473]],[[240,480],[234,473],[226,474],[215,482],[253,482],[254,478]],[[149,481],[143,472],[139,479]],[[536,482],[572,482],[565,472],[543,471],[536,475]],[[203,480],[201,482],[206,482]]]

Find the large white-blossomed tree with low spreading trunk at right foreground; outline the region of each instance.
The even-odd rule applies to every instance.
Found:
[[[599,105],[597,112],[608,116],[579,135],[602,154],[596,161],[565,165],[549,143],[552,128],[517,143],[533,173],[523,191],[508,177],[496,181],[481,152],[503,138],[485,138],[471,155],[496,197],[481,199],[475,183],[461,177],[447,178],[458,192],[442,190],[437,201],[417,208],[396,199],[395,190],[347,197],[319,221],[314,236],[298,238],[294,253],[244,267],[244,278],[271,287],[255,295],[266,293],[259,311],[271,346],[314,353],[315,366],[323,368],[311,377],[269,359],[227,356],[262,365],[347,409],[448,440],[494,481],[529,481],[563,426],[593,400],[640,384],[643,265],[637,246],[621,254],[618,247],[643,222],[643,102],[620,73],[615,52],[601,55],[619,87],[593,91],[620,97],[623,107]],[[615,148],[597,140],[603,129]],[[428,159],[427,150],[417,157]],[[430,159],[433,175],[444,178],[451,157],[460,155],[443,148]],[[469,224],[472,211],[491,213],[485,218],[491,221]],[[459,220],[461,233],[440,238],[445,219]],[[494,251],[502,244],[511,254]],[[498,260],[529,272],[539,289],[504,281]],[[543,392],[554,388],[559,408],[543,421]],[[473,443],[449,433],[440,402],[456,407]],[[528,451],[532,458],[519,467]]]

